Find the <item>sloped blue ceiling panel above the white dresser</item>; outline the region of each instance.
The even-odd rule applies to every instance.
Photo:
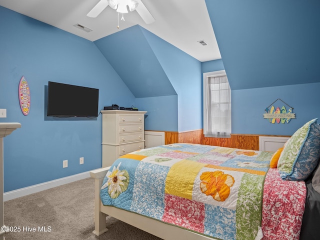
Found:
[[[176,94],[141,26],[131,26],[94,43],[135,97]]]

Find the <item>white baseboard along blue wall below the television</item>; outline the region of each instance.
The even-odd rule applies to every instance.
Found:
[[[46,181],[43,183],[39,183],[39,184],[35,184],[32,186],[27,186],[27,187],[23,187],[23,188],[19,188],[16,190],[12,190],[12,191],[7,191],[3,193],[3,201],[7,201],[7,200],[11,200],[20,196],[25,196],[28,194],[32,194],[38,191],[43,191],[55,186],[60,186],[66,183],[70,183],[72,181],[77,181],[77,180],[81,180],[87,177],[90,177],[90,171],[85,171],[85,172],[81,172],[75,175],[71,175],[71,176],[66,176],[66,177],[62,177],[59,179],[55,179],[52,181]]]

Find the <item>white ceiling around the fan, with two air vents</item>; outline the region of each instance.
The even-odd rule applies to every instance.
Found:
[[[91,41],[139,24],[199,61],[221,58],[204,0],[141,0],[155,21],[146,24],[136,11],[129,11],[124,21],[119,19],[119,28],[117,12],[110,6],[95,18],[86,16],[98,1],[0,0],[0,5]]]

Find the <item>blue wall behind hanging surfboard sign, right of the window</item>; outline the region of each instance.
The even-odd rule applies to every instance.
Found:
[[[319,82],[231,90],[232,133],[292,135],[308,120],[320,117],[319,91]],[[263,118],[265,107],[278,98],[293,107],[296,119],[272,124]],[[288,109],[282,101],[273,105]]]

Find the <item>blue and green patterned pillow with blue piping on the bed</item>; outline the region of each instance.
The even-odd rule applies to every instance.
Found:
[[[288,139],[278,160],[278,170],[284,180],[305,180],[320,157],[320,125],[312,119],[297,129]]]

